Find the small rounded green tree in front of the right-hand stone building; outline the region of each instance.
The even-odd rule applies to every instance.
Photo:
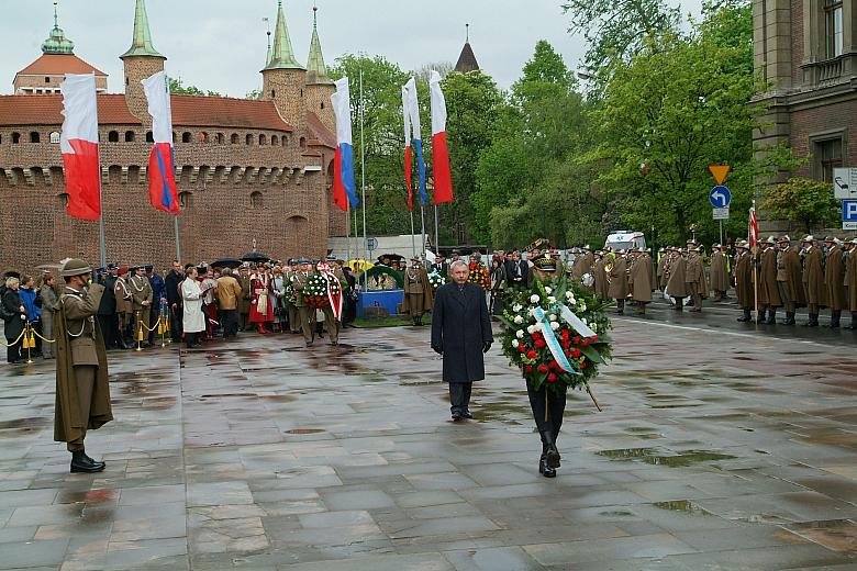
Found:
[[[827,227],[839,216],[831,183],[800,177],[768,188],[761,208],[773,217],[799,223],[806,234]]]

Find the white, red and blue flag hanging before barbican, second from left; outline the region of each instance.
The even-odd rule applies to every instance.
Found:
[[[178,215],[176,165],[172,159],[172,109],[167,76],[164,71],[158,71],[141,83],[148,100],[152,137],[155,139],[148,156],[148,200],[156,209]]]

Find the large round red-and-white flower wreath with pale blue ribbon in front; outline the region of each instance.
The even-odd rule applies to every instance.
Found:
[[[503,354],[536,389],[588,389],[612,357],[609,305],[565,275],[535,279],[530,290],[507,299]]]

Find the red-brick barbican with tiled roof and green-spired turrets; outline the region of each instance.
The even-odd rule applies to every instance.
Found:
[[[259,100],[171,96],[182,261],[241,256],[254,245],[276,258],[318,256],[329,236],[345,235],[331,190],[336,139],[325,97],[334,87],[318,33],[310,69],[293,58],[281,5],[274,40]],[[0,270],[100,259],[99,223],[65,212],[63,101],[52,91],[65,72],[90,71],[99,86],[108,261],[167,267],[176,256],[174,219],[149,204],[152,120],[140,83],[166,58],[152,45],[144,0],[136,1],[132,47],[121,56],[124,93],[104,92],[107,76],[73,47],[55,21],[43,56],[15,77],[15,94],[0,96]]]

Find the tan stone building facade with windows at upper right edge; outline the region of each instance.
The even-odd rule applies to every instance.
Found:
[[[857,11],[853,0],[754,0],[755,67],[769,89],[756,144],[810,157],[795,175],[832,181],[857,166]]]

